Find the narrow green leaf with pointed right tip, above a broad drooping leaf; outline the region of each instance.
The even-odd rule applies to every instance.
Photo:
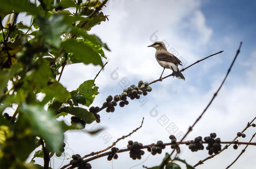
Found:
[[[107,47],[106,43],[103,43],[99,37],[97,37],[96,35],[89,35],[87,34],[86,30],[82,29],[82,28],[78,28],[76,26],[73,26],[71,29],[71,33],[79,35],[83,38],[86,38],[86,40],[89,40],[91,43],[93,43],[94,45],[98,45],[98,46],[102,46],[103,48],[107,49],[110,51],[110,49]]]

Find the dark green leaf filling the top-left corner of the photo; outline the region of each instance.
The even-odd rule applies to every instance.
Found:
[[[29,0],[1,0],[0,11],[3,13],[27,12],[33,15],[43,15],[44,11]]]

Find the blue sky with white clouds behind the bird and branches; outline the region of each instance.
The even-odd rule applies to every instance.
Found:
[[[215,132],[222,141],[232,141],[236,133],[256,116],[256,1],[109,0],[103,12],[109,15],[109,21],[95,26],[90,33],[106,42],[111,52],[106,51],[108,64],[96,79],[100,93],[92,106],[101,106],[108,95],[120,94],[124,86],[159,78],[162,67],[155,60],[155,49],[146,47],[156,40],[164,41],[167,49],[182,59],[184,66],[220,50],[224,52],[188,68],[183,72],[185,81],[166,78],[154,83],[152,93],[139,101],[129,100],[128,106],[117,106],[114,113],[100,112],[100,124],[86,125],[87,130],[103,127],[104,131],[97,136],[81,131],[67,132],[65,141],[70,149],[65,152],[85,155],[104,149],[140,126],[143,117],[143,127],[119,141],[119,148],[124,148],[129,140],[146,145],[158,140],[170,142],[170,134],[182,135],[217,90],[240,41],[243,41],[241,52],[226,83],[187,140],[196,136],[204,138]],[[74,90],[84,81],[93,79],[99,69],[99,66],[82,64],[66,66],[61,83],[69,91]],[[164,75],[170,73],[165,70]],[[70,121],[68,118],[65,121]],[[171,130],[170,126],[176,129]],[[246,138],[239,138],[239,141],[249,141],[254,133],[255,128],[249,128],[245,132]],[[242,145],[234,150],[230,146],[197,168],[225,168],[243,148]],[[232,167],[251,168],[255,164],[252,160],[255,150],[255,146],[249,146]],[[136,165],[133,169],[141,169],[142,165],[160,164],[164,152],[170,153],[170,147],[156,156],[146,151],[141,160],[134,161],[128,153],[122,153],[112,162],[103,157],[90,163],[94,169],[102,166],[129,169]],[[185,145],[181,146],[179,155],[191,165],[207,156],[206,150],[192,153]],[[42,160],[37,162],[42,163]],[[68,162],[65,160],[63,164]],[[62,160],[54,158],[55,169],[61,163]]]

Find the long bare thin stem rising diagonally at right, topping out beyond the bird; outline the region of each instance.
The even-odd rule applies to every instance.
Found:
[[[223,79],[221,85],[219,86],[218,90],[216,91],[216,93],[214,93],[211,101],[208,103],[208,105],[206,106],[206,108],[204,109],[204,111],[201,113],[201,115],[196,119],[196,121],[194,122],[194,124],[192,126],[189,126],[187,133],[183,136],[183,138],[180,141],[183,141],[185,139],[185,137],[192,131],[193,127],[196,125],[196,123],[201,119],[201,117],[204,115],[204,113],[206,112],[206,110],[209,108],[209,106],[212,104],[212,101],[214,100],[214,98],[217,96],[217,94],[219,93],[219,90],[221,89],[222,85],[224,84],[224,82],[227,79],[228,74],[231,71],[231,68],[233,66],[233,64],[235,63],[235,60],[238,56],[238,54],[240,53],[240,48],[241,48],[242,42],[240,42],[239,48],[237,50],[237,53],[235,55],[235,58],[233,59],[230,68],[227,70],[227,74],[225,76],[225,78]],[[171,152],[170,156],[172,156],[172,154],[174,153],[175,149],[173,149],[173,151]],[[166,163],[167,164],[167,163]]]

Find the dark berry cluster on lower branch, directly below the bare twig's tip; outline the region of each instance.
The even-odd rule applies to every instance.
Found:
[[[141,159],[141,156],[145,154],[145,152],[141,150],[142,146],[143,145],[137,141],[128,141],[127,149],[130,151],[129,154],[133,160]]]

